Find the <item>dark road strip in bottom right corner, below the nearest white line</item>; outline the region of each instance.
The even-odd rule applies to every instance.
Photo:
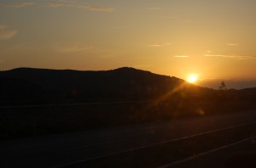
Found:
[[[215,148],[195,157],[185,158],[158,168],[236,168],[256,167],[256,142],[254,138],[247,138],[228,146]]]

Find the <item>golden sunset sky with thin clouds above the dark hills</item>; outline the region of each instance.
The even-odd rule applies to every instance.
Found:
[[[256,87],[255,8],[255,0],[0,0],[0,70],[127,66],[196,74],[206,87]]]

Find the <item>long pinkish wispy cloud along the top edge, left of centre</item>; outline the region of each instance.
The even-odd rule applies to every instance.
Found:
[[[77,1],[58,1],[55,3],[48,3],[49,8],[60,8],[60,7],[73,7],[73,8],[86,8],[91,11],[100,12],[112,12],[113,8],[106,6],[92,5],[90,3],[81,3]]]

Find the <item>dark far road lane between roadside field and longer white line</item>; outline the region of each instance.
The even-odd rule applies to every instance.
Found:
[[[108,158],[118,160],[120,156],[125,157],[125,154],[136,154],[139,150],[147,152],[148,148],[159,148],[159,146],[166,148],[163,145],[191,137],[197,138],[207,133],[241,129],[242,126],[255,121],[256,111],[254,110],[3,141],[0,144],[0,167],[66,168],[84,167],[87,163],[87,167],[90,167]],[[177,158],[176,161],[183,159]],[[148,160],[152,159],[148,158]],[[111,163],[114,167],[114,162]],[[159,166],[168,167],[170,164],[172,165],[165,162]],[[172,166],[178,167],[178,165]]]

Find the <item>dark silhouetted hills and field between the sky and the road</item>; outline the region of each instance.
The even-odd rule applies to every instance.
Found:
[[[18,68],[0,72],[1,139],[255,109],[256,88],[197,87],[174,76]]]

